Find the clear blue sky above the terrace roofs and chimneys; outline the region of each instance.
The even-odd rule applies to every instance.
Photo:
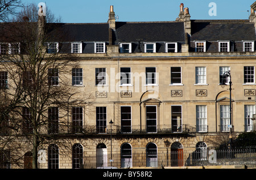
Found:
[[[248,19],[250,5],[256,0],[22,0],[40,2],[63,23],[105,23],[110,6],[119,22],[172,21],[179,15],[180,3],[189,8],[191,19]],[[216,16],[209,15],[209,4],[216,5]],[[249,12],[247,12],[249,11]]]

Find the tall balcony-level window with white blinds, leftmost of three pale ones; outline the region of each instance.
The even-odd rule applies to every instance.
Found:
[[[207,105],[196,105],[196,130],[207,132]]]

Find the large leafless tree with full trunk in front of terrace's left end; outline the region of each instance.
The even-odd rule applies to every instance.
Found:
[[[26,139],[28,147],[31,145],[34,169],[38,168],[39,146],[56,140],[56,134],[69,131],[65,121],[69,106],[86,109],[93,100],[89,93],[70,88],[72,68],[79,66],[78,57],[65,49],[68,32],[55,23],[58,20],[51,13],[46,17],[39,16],[38,8],[31,5],[24,7],[15,22],[4,24],[9,43],[0,58],[0,71],[7,72],[9,78],[9,87],[1,89],[0,95],[5,98],[0,102],[4,109],[0,119],[3,122],[4,117],[9,118],[8,141],[13,139],[16,149],[27,148],[24,141],[18,143],[17,137]],[[56,122],[59,111],[65,112],[57,117],[63,121]]]

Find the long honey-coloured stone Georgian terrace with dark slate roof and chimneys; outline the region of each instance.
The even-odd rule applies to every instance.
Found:
[[[95,101],[90,113],[82,106],[70,111],[69,121],[80,121],[82,131],[61,132],[64,140],[76,134],[77,151],[64,155],[49,144],[40,168],[96,168],[110,161],[119,168],[157,167],[160,152],[211,149],[217,136],[254,130],[255,3],[246,20],[192,20],[182,3],[179,10],[170,22],[117,22],[111,6],[107,23],[55,24],[68,37],[56,38],[48,53],[65,46],[79,55],[70,88],[92,93]],[[4,47],[0,53],[9,53]],[[7,87],[8,75],[0,78]],[[57,149],[54,165],[51,148]],[[135,164],[139,153],[144,165]],[[187,159],[170,158],[178,160],[175,166]]]

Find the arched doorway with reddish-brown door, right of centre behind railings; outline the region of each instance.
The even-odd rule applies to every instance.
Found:
[[[183,166],[183,145],[179,142],[171,145],[171,166]]]

